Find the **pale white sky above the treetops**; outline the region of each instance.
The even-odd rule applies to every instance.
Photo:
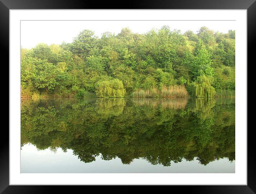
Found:
[[[181,30],[182,33],[187,30],[196,33],[202,26],[222,33],[235,30],[235,21],[21,21],[21,46],[30,49],[39,43],[71,43],[84,29],[92,30],[101,37],[106,31],[117,35],[125,27],[133,33],[143,34],[152,28],[160,29],[163,25],[170,26],[171,30]]]

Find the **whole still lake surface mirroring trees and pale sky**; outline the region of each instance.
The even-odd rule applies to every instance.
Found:
[[[21,99],[21,173],[235,173],[235,98]]]

